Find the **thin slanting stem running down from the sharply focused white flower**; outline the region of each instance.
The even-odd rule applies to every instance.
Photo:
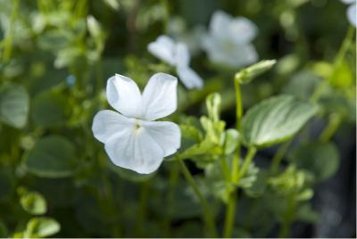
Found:
[[[203,220],[206,224],[208,229],[208,235],[210,237],[217,237],[217,230],[214,223],[214,219],[211,214],[211,208],[209,207],[208,202],[204,199],[203,195],[201,194],[200,190],[198,189],[197,185],[195,185],[195,179],[191,175],[190,171],[187,169],[185,162],[182,161],[179,157],[177,157],[179,161],[179,165],[181,166],[182,173],[186,177],[187,183],[192,187],[196,196],[198,197],[199,201],[201,202],[203,208]]]

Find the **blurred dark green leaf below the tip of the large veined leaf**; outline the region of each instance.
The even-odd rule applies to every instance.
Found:
[[[289,155],[289,161],[300,169],[310,171],[319,180],[332,177],[339,166],[339,155],[333,143],[303,144]]]

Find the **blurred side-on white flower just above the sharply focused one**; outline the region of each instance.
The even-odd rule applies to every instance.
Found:
[[[179,79],[185,87],[189,89],[203,87],[203,79],[188,66],[190,54],[186,44],[176,43],[168,36],[160,36],[147,45],[147,50],[163,62],[176,67]]]

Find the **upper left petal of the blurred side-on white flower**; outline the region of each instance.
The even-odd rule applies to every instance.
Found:
[[[175,64],[176,44],[170,37],[157,37],[156,41],[147,45],[147,50],[163,62],[167,62],[170,65]]]

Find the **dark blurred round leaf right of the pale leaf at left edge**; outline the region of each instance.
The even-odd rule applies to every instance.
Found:
[[[33,102],[32,119],[42,127],[65,122],[67,101],[63,95],[46,91],[37,95]]]

